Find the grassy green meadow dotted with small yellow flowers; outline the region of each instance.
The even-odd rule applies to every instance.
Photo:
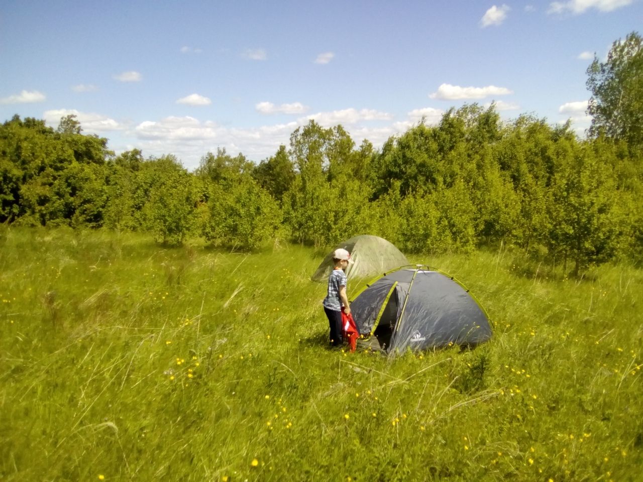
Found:
[[[494,338],[386,358],[327,347],[312,248],[0,229],[3,481],[643,479],[640,269],[413,256]]]

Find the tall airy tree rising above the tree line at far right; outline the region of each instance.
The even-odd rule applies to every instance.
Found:
[[[594,57],[587,69],[592,93],[588,113],[590,135],[604,133],[625,139],[630,148],[643,148],[643,39],[633,31],[615,41],[607,60]]]

